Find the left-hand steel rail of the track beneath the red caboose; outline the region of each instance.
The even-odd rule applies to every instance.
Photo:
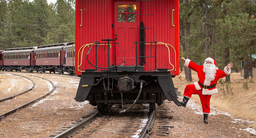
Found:
[[[76,125],[72,126],[71,128],[65,130],[64,132],[56,135],[53,138],[66,138],[66,137],[71,137],[72,135],[76,134],[79,132],[81,129],[83,129],[85,126],[90,124],[95,118],[98,116],[98,111],[94,113],[93,115],[89,116],[88,118],[84,119],[83,121],[77,123]]]

